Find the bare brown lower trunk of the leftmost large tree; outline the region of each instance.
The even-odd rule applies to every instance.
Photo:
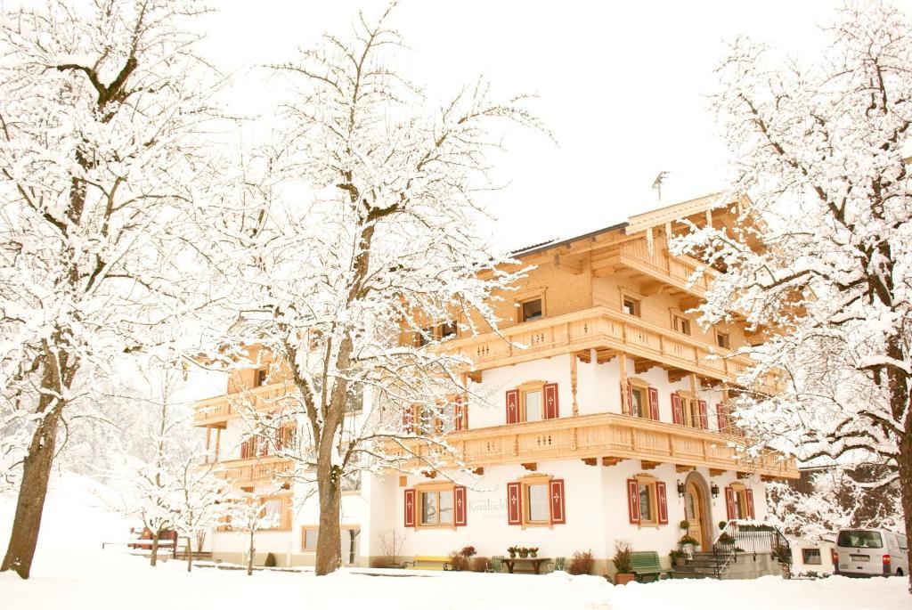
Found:
[[[50,406],[47,394],[38,401],[39,411]],[[41,424],[32,436],[28,454],[23,464],[22,482],[19,485],[19,497],[16,501],[16,517],[13,520],[13,531],[9,536],[6,556],[0,572],[14,570],[22,578],[28,578],[35,557],[38,543],[38,531],[41,528],[41,513],[45,509],[47,481],[50,480],[51,466],[57,448],[57,427],[64,403],[59,402],[42,419]]]

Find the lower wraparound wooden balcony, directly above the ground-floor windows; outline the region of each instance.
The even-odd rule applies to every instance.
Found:
[[[472,468],[526,464],[547,460],[586,460],[613,465],[619,460],[642,460],[644,468],[673,463],[681,469],[703,466],[712,470],[757,473],[797,479],[792,458],[768,452],[747,459],[734,447],[740,439],[710,430],[692,429],[616,413],[546,419],[453,432],[447,441]],[[427,455],[426,447],[414,455]],[[399,448],[399,456],[409,453]],[[449,463],[455,463],[451,456]],[[414,462],[419,465],[420,462]]]

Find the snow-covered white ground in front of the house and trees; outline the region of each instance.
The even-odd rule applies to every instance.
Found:
[[[548,574],[352,571],[313,574],[194,569],[181,562],[152,569],[146,560],[100,549],[102,540],[124,540],[130,524],[104,511],[104,488],[67,475],[48,498],[32,578],[0,574],[0,606],[68,610],[238,607],[342,608],[630,608],[706,610],[907,610],[905,579],[785,581],[665,581],[613,587],[596,576]],[[0,499],[0,552],[12,522],[13,502]],[[408,574],[408,576],[404,575]],[[300,602],[300,604],[296,603]]]

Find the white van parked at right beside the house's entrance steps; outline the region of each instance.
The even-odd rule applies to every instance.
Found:
[[[833,550],[833,574],[903,576],[909,573],[906,536],[886,530],[840,530]]]

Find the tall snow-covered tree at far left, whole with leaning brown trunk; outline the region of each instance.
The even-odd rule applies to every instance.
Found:
[[[182,29],[200,11],[48,0],[0,14],[0,409],[28,414],[0,570],[29,574],[62,419],[119,355],[189,338],[181,319],[212,299],[196,250],[209,68]]]

